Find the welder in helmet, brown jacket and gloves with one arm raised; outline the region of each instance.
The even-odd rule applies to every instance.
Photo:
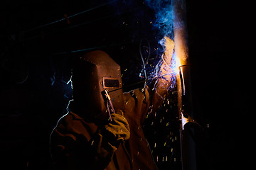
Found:
[[[142,125],[169,81],[159,79],[151,100],[147,86],[123,93],[120,67],[103,51],[75,60],[71,80],[73,100],[50,135],[55,169],[157,169]]]

